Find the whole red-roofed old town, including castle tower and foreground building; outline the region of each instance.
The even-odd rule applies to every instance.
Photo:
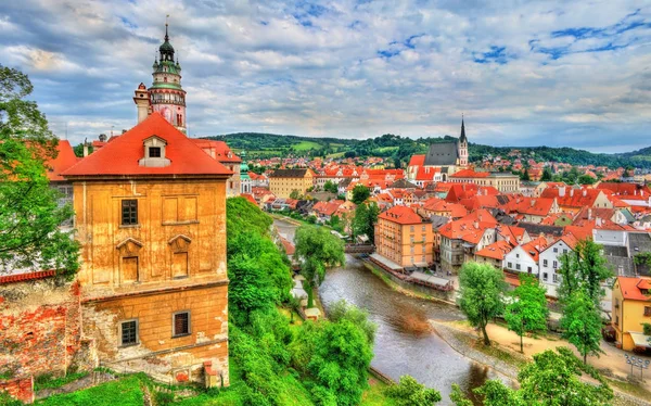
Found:
[[[137,86],[137,123],[99,136],[77,157],[68,141],[49,163],[51,186],[71,203],[81,268],[60,283],[52,271],[0,276],[0,367],[20,371],[3,385],[33,401],[33,377],[72,365],[144,371],[163,382],[229,385],[226,199],[331,227],[394,278],[454,294],[470,261],[502,268],[507,281],[531,274],[557,297],[560,257],[592,239],[613,271],[602,310],[616,345],[649,347],[651,190],[602,173],[590,186],[531,181],[498,170],[513,156],[471,163],[465,123],[458,139],[432,144],[406,168],[380,157],[301,156],[243,162],[222,141],[186,135],[181,66],[168,36],[153,84]],[[470,132],[470,131],[469,131]],[[256,173],[250,166],[261,167]],[[386,165],[388,166],[388,165]],[[361,191],[361,192],[360,192]],[[361,196],[361,198],[360,198]],[[354,234],[358,205],[376,205],[372,236]],[[354,236],[353,236],[354,234]],[[282,241],[288,254],[292,241]]]

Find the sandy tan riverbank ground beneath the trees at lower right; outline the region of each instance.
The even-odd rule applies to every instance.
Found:
[[[493,345],[486,347],[481,344],[480,337],[467,322],[430,320],[430,323],[436,333],[455,351],[478,364],[493,368],[514,384],[516,384],[520,368],[531,361],[534,354],[559,346],[572,347],[567,342],[560,339],[525,338],[525,351],[524,354],[521,354],[515,350],[520,345],[520,338],[502,326],[493,323],[487,326]],[[607,356],[612,360],[612,357],[616,355],[609,352]],[[622,368],[605,359],[591,357],[590,365],[604,376],[613,389],[615,393],[613,405],[651,405],[651,402],[647,401],[651,399],[651,392],[646,388],[649,385],[648,381],[646,385],[636,385],[627,382],[626,373],[624,373],[624,379],[622,377]],[[613,368],[615,368],[615,371],[613,371]]]

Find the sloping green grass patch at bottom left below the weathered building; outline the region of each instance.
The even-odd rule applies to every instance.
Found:
[[[143,395],[141,386],[148,379],[144,373],[136,373],[82,391],[53,395],[37,401],[35,404],[43,406],[142,406]]]

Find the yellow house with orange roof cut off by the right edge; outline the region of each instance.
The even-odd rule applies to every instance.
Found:
[[[623,350],[651,348],[651,335],[643,325],[651,323],[651,278],[617,277],[613,286],[613,327]]]

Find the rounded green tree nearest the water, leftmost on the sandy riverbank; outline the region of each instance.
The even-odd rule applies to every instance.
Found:
[[[486,325],[503,312],[505,275],[489,264],[465,263],[459,272],[459,307],[470,323],[482,330],[490,345]]]

